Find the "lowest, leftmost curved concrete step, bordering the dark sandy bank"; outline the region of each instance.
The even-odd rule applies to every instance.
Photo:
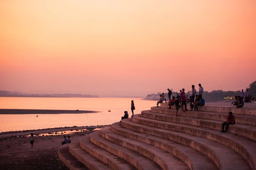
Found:
[[[58,149],[58,157],[70,170],[89,170],[84,164],[70,154],[68,145],[64,145]]]

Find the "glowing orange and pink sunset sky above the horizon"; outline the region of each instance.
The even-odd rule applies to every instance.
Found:
[[[256,0],[0,0],[0,90],[140,95],[256,80]]]

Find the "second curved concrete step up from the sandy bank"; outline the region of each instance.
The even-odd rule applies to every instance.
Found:
[[[69,152],[90,170],[113,170],[107,164],[87,153],[79,146],[79,142],[69,144]]]

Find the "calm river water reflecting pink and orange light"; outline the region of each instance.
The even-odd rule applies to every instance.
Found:
[[[0,132],[33,130],[51,127],[109,125],[118,122],[124,111],[131,116],[131,100],[134,100],[134,114],[150,110],[156,101],[129,98],[33,98],[0,97],[1,109],[49,109],[102,111],[100,113],[78,114],[20,114],[1,115]],[[111,112],[108,112],[111,110]]]

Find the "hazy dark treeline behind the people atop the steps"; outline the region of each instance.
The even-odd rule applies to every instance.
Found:
[[[246,89],[244,89],[245,91]],[[255,82],[252,82],[249,87],[248,87],[248,90],[249,90],[249,94],[251,96],[256,96],[256,81]],[[177,96],[176,94],[177,92],[172,92],[172,96]],[[197,91],[198,93],[198,91]],[[225,100],[224,98],[227,98],[227,97],[234,97],[234,96],[239,96],[241,93],[241,91],[223,91],[223,90],[215,90],[215,91],[211,91],[211,92],[208,92],[208,91],[205,91],[203,93],[203,97],[206,101],[208,102],[218,102],[218,101],[221,101],[221,100]],[[157,94],[148,94],[145,98],[145,100],[159,100],[160,99],[160,92],[158,92]],[[191,91],[188,91],[186,93],[188,96],[191,96]],[[164,93],[165,95],[165,98],[166,100],[168,100],[168,93]]]

